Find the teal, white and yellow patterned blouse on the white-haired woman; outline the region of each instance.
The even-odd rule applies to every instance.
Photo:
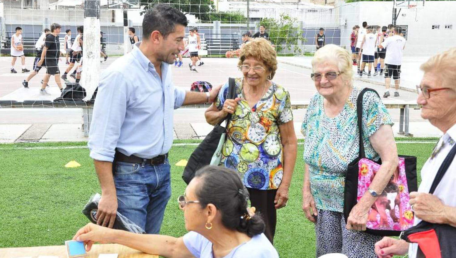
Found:
[[[316,93],[307,108],[301,132],[306,137],[304,162],[309,166],[311,193],[316,207],[343,212],[343,192],[347,166],[359,154],[356,103],[361,90],[354,87],[342,111],[326,116],[323,96]],[[366,157],[377,160],[369,137],[381,125],[393,125],[382,100],[372,91],[363,97],[363,142]]]

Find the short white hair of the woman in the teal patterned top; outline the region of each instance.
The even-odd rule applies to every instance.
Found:
[[[326,45],[315,52],[312,58],[312,72],[315,72],[315,66],[319,63],[332,62],[337,65],[339,72],[344,81],[353,81],[352,57],[347,50],[334,44]]]

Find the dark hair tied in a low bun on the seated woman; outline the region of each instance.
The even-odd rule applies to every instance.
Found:
[[[249,237],[264,232],[259,212],[251,218],[244,216],[248,213],[249,192],[236,172],[226,167],[206,166],[196,172],[195,178],[201,180],[196,190],[201,207],[213,204],[222,213],[223,226]]]

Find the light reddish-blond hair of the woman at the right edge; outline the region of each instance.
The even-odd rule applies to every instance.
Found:
[[[456,89],[456,47],[432,56],[420,66],[422,71],[440,74],[440,82],[444,87]]]

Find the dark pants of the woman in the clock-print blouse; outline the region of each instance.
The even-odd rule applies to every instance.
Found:
[[[256,208],[256,212],[261,213],[266,228],[264,235],[271,243],[274,242],[275,224],[277,223],[277,210],[275,209],[274,199],[276,190],[258,190],[247,187],[250,195],[250,205]]]

